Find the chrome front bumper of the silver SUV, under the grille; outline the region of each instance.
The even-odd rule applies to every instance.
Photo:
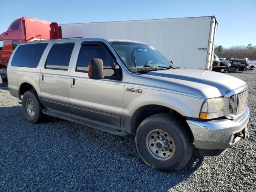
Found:
[[[187,123],[194,136],[196,148],[205,150],[225,150],[236,144],[241,136],[239,133],[247,134],[247,123],[250,111],[246,110],[242,117],[235,120],[221,119],[207,122],[187,120]]]

